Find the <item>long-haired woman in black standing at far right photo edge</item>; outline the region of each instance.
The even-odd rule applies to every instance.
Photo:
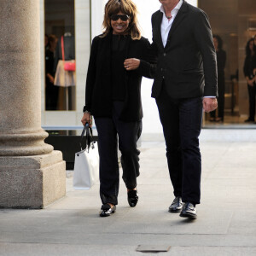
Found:
[[[247,42],[246,46],[246,59],[244,61],[243,73],[247,79],[247,88],[249,94],[249,117],[245,122],[254,122],[255,115],[255,68],[256,68],[256,46],[254,45],[254,39],[251,38]]]

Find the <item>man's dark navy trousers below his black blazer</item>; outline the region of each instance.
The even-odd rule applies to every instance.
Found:
[[[156,99],[166,139],[166,157],[175,196],[200,203],[202,98],[172,99],[163,90]]]

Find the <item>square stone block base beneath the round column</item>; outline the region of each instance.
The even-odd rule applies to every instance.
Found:
[[[66,195],[60,151],[0,157],[0,208],[42,209]]]

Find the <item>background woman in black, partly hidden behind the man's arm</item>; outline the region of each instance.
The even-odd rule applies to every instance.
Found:
[[[225,93],[225,75],[224,68],[226,64],[226,52],[222,49],[223,41],[218,35],[212,35],[214,48],[217,55],[218,66],[218,117],[216,110],[211,112],[210,121],[224,121],[224,93]]]

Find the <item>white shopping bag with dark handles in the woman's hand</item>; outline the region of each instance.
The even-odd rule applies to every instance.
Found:
[[[96,142],[92,142],[92,133],[89,125],[84,126],[86,131],[86,148],[75,154],[73,188],[78,190],[90,189],[99,179],[99,153]],[[84,137],[82,132],[82,138]],[[82,147],[81,147],[82,148]]]

